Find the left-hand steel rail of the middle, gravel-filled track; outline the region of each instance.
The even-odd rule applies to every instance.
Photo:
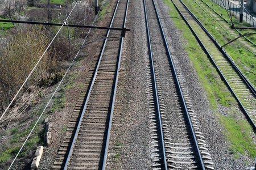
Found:
[[[162,140],[162,151],[163,151],[163,159],[164,159],[164,168],[167,170],[167,162],[166,162],[166,151],[164,149],[164,139],[163,139],[163,129],[162,129],[162,121],[161,121],[161,116],[160,116],[160,107],[159,107],[159,100],[158,100],[158,90],[156,87],[156,78],[155,78],[155,68],[154,68],[154,62],[153,62],[153,54],[152,54],[152,49],[151,49],[151,40],[150,40],[150,31],[148,28],[148,19],[147,19],[147,10],[146,10],[146,2],[143,0],[143,6],[144,6],[144,15],[145,15],[145,21],[146,21],[146,29],[147,29],[147,42],[148,42],[148,49],[150,52],[150,59],[151,59],[151,64],[152,64],[152,72],[153,72],[153,77],[154,77],[154,92],[155,92],[155,97],[156,97],[156,104],[158,107],[158,118],[159,118],[159,124],[160,124],[160,133],[161,133],[161,140]]]

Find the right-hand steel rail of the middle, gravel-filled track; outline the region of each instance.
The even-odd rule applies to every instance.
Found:
[[[183,93],[182,93],[182,91],[181,91],[179,79],[177,78],[177,74],[176,74],[174,62],[172,61],[172,56],[171,56],[171,53],[170,53],[170,50],[169,50],[169,47],[168,47],[168,43],[167,43],[167,40],[166,40],[166,36],[164,35],[162,23],[161,23],[161,21],[160,21],[159,15],[158,15],[158,10],[157,10],[157,8],[156,8],[155,1],[152,0],[152,2],[154,3],[154,8],[155,8],[155,11],[156,11],[156,14],[157,14],[157,17],[158,17],[158,23],[159,23],[159,25],[160,25],[160,27],[161,27],[160,31],[161,31],[162,37],[163,37],[163,39],[164,39],[164,45],[166,46],[166,50],[167,50],[167,52],[168,52],[168,57],[169,57],[169,59],[170,59],[170,61],[171,61],[171,66],[172,66],[172,69],[174,70],[175,79],[176,79],[177,85],[178,85],[178,87],[179,87],[179,93],[180,93],[180,96],[181,96],[181,99],[182,99],[182,104],[183,104],[183,107],[185,108],[185,112],[186,112],[186,115],[187,115],[187,118],[188,118],[188,122],[189,122],[189,127],[190,127],[191,132],[192,132],[193,142],[194,142],[195,145],[196,145],[196,151],[197,151],[197,156],[199,156],[200,166],[201,166],[201,169],[205,169],[205,168],[204,168],[204,162],[203,162],[202,156],[201,156],[201,154],[200,154],[199,146],[198,146],[197,141],[196,141],[196,135],[195,135],[195,133],[194,133],[193,126],[192,126],[192,123],[191,123],[191,120],[190,120],[190,117],[189,117],[189,114],[188,114],[188,109],[187,109],[187,106],[186,106],[186,104],[185,104],[185,99],[184,99]]]

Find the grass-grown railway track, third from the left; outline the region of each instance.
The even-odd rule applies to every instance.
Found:
[[[255,88],[184,3],[178,0],[172,0],[172,2],[240,103],[250,124],[256,129]]]

